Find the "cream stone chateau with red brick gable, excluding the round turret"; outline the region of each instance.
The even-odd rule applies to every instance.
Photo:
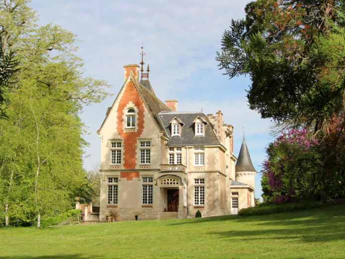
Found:
[[[236,206],[253,206],[255,174],[236,182],[233,127],[224,124],[223,113],[178,112],[177,100],[162,103],[148,80],[138,80],[139,66],[125,65],[124,84],[97,132],[100,220],[111,208],[121,220],[236,213],[232,193]]]

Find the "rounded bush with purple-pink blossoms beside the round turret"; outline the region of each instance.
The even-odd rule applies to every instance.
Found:
[[[270,143],[261,171],[264,201],[303,200],[316,193],[315,169],[322,166],[320,154],[314,151],[318,145],[306,129],[287,129]]]

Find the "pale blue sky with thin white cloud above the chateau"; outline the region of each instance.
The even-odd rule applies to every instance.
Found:
[[[76,55],[84,60],[84,76],[103,79],[113,94],[83,108],[88,127],[84,138],[84,168],[100,162],[101,139],[96,133],[123,85],[123,66],[141,61],[150,66],[149,80],[161,100],[178,100],[178,111],[223,113],[224,123],[234,127],[234,154],[243,139],[257,172],[265,159],[265,147],[273,141],[273,123],[248,108],[245,90],[249,77],[229,80],[215,60],[231,19],[243,18],[249,0],[32,0],[38,24],[60,25],[78,41]],[[243,130],[244,129],[244,130]],[[255,196],[261,197],[261,176],[255,177]]]

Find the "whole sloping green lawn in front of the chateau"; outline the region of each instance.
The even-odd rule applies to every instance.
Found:
[[[345,205],[265,216],[0,229],[0,259],[345,258]]]

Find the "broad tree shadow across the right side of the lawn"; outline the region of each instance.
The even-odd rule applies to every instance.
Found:
[[[325,242],[345,240],[345,205],[278,213],[264,216],[243,217],[237,215],[193,219],[171,225],[217,223],[225,221],[241,223],[243,230],[210,232],[220,238],[238,240],[299,239],[301,242]],[[233,226],[236,226],[234,224]],[[203,228],[198,226],[198,228]],[[238,227],[238,226],[236,226]],[[247,230],[256,228],[257,230]]]

